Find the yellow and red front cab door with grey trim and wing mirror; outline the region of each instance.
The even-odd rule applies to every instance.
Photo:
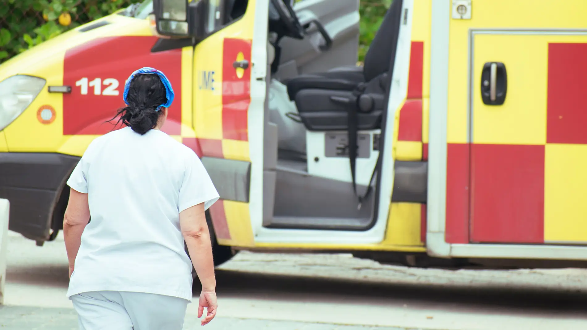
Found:
[[[182,141],[200,157],[220,195],[208,210],[215,239],[252,246],[251,219],[260,219],[263,207],[269,0],[194,0],[184,12],[186,3],[154,0],[157,32],[195,45],[193,72],[182,74],[193,86],[181,95],[192,109]]]

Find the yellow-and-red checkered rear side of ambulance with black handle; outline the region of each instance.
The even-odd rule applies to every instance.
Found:
[[[447,242],[587,244],[587,2],[452,5]]]

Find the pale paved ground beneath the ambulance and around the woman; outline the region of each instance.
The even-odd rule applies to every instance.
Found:
[[[35,329],[23,320],[75,328],[62,239],[36,247],[12,235],[8,249],[0,329]],[[423,270],[343,254],[239,253],[217,280],[220,309],[205,329],[587,329],[587,270]],[[186,325],[199,326],[196,308],[188,306]]]

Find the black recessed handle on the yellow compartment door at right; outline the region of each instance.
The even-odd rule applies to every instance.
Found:
[[[507,92],[507,73],[505,64],[487,62],[481,72],[481,98],[488,106],[501,106]]]

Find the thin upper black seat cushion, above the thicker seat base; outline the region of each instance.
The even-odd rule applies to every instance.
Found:
[[[352,91],[364,81],[362,71],[357,71],[355,68],[302,74],[287,81],[288,95],[290,100],[295,100],[298,91],[303,89]]]

